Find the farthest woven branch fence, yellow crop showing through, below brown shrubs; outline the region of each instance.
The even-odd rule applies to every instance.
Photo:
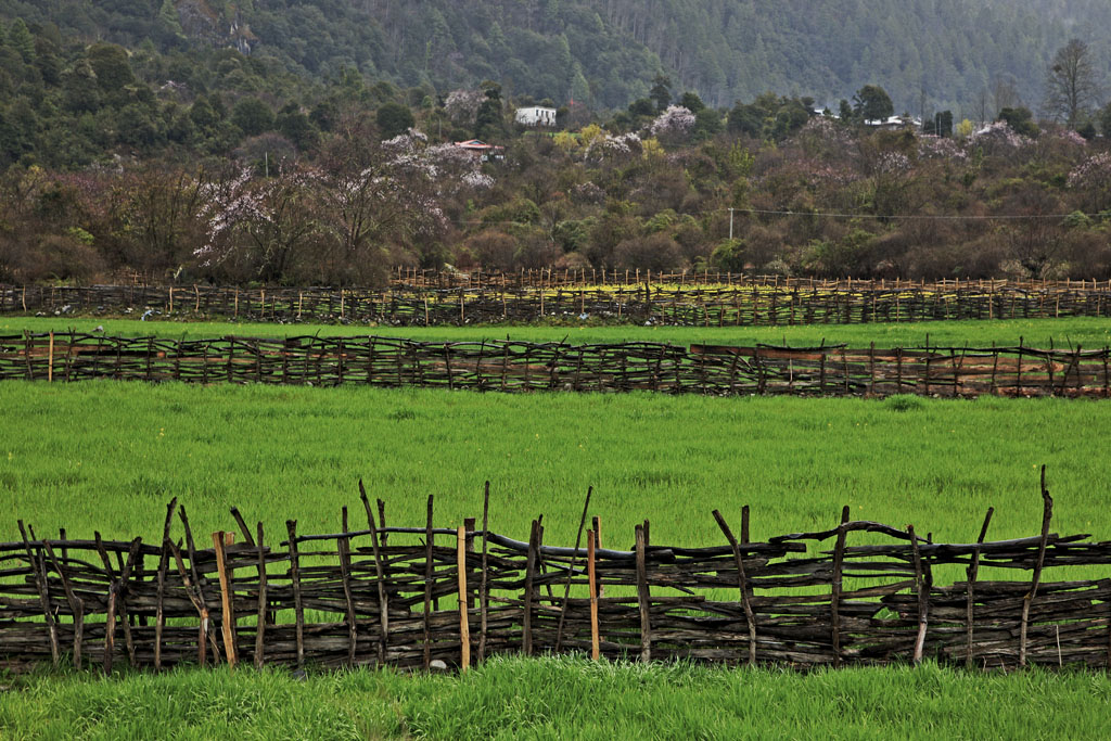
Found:
[[[157,313],[393,326],[602,321],[697,327],[1111,316],[1111,283],[394,286],[387,290],[0,286],[0,313]]]

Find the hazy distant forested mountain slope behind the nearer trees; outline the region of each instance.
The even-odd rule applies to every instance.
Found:
[[[163,52],[234,46],[317,79],[492,79],[595,110],[644,96],[663,72],[720,107],[768,90],[835,104],[875,83],[897,110],[972,117],[1037,108],[1047,63],[1073,36],[1107,72],[1111,39],[1103,0],[0,0],[0,17]]]

